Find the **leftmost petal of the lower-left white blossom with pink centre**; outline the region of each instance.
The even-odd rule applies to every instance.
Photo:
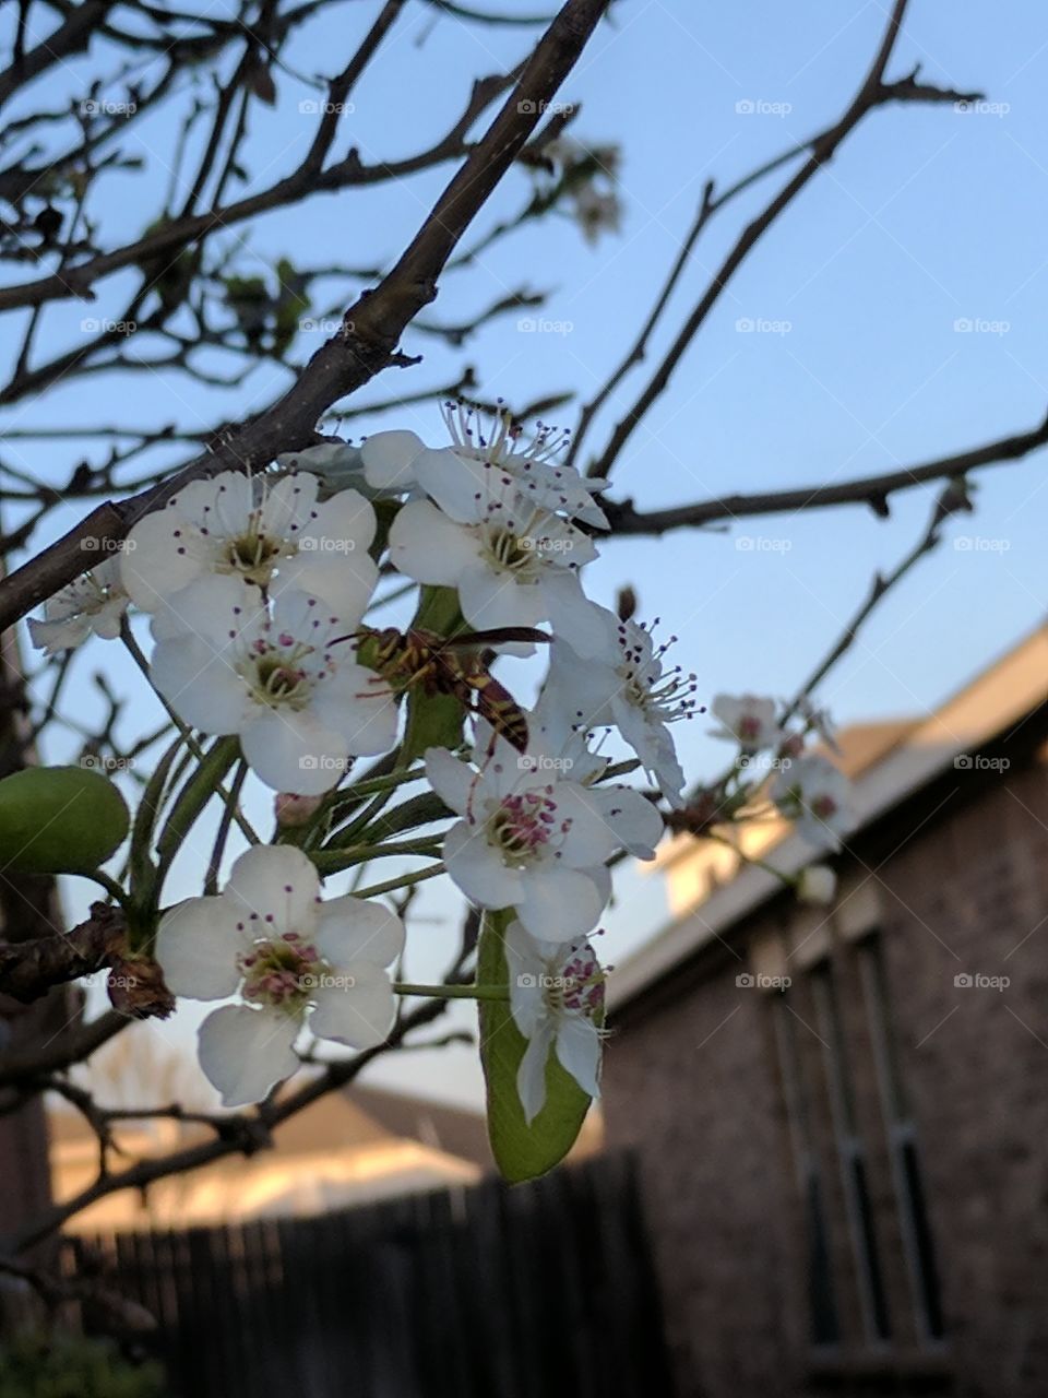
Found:
[[[236,958],[247,944],[225,898],[190,898],[161,918],[157,960],[168,990],[190,1000],[224,1000],[240,984]]]

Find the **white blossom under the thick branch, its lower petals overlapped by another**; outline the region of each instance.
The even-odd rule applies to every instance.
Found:
[[[240,577],[270,597],[309,591],[356,625],[379,577],[367,552],[374,509],[358,491],[319,503],[319,488],[305,471],[190,482],[129,535],[122,573],[131,601],[177,612],[200,579]]]

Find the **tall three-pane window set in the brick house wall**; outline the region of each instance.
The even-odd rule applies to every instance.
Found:
[[[830,948],[770,1000],[812,1343],[933,1345],[939,1276],[880,938]]]

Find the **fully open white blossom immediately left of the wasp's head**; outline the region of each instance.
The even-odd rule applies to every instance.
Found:
[[[306,593],[282,593],[270,612],[233,579],[196,584],[193,629],[162,618],[151,677],[179,717],[208,734],[238,734],[243,755],[275,791],[330,790],[349,756],[388,752],[397,706],[388,685],[356,663],[351,628]],[[190,603],[193,587],[186,590]]]

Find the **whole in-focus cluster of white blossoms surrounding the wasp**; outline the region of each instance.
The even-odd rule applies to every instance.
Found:
[[[609,863],[653,858],[658,794],[682,801],[669,726],[690,716],[694,678],[665,664],[648,628],[585,596],[591,533],[606,528],[604,482],[560,464],[566,435],[539,424],[524,436],[502,411],[447,405],[444,417],[447,446],[381,432],[359,450],[326,442],[274,471],[187,485],[134,526],[105,576],[54,598],[34,635],[53,651],[91,630],[119,633],[129,600],[148,612],[150,675],[169,707],[201,734],[236,735],[245,762],[281,794],[282,825],[300,825],[354,758],[397,744],[400,693],[362,663],[383,549],[405,577],[453,589],[478,630],[546,624],[549,671],[525,714],[527,751],[478,717],[471,755],[425,755],[457,818],[443,843],[447,872],[471,902],[507,914],[510,1009],[530,1046],[518,1092],[531,1120],[553,1053],[597,1095],[604,972],[587,938],[609,899]],[[391,516],[381,547],[373,500]],[[520,636],[492,643],[534,651]],[[608,780],[609,759],[591,749],[602,728],[619,731],[658,793]],[[259,846],[221,896],[162,918],[158,959],[172,991],[239,993],[200,1039],[229,1104],[257,1100],[293,1069],[303,1023],[355,1047],[388,1033],[386,967],[402,946],[400,921],[374,903],[317,895],[305,854]]]

